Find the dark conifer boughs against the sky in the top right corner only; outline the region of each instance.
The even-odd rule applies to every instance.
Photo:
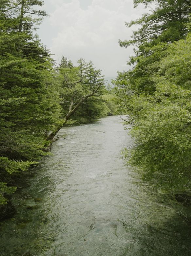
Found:
[[[126,26],[139,25],[140,28],[133,32],[132,40],[121,41],[120,46],[127,47],[131,44],[140,46],[137,52],[143,55],[143,47],[146,45],[157,45],[160,42],[173,42],[185,38],[187,27],[185,23],[189,22],[191,12],[190,2],[184,0],[134,0],[134,7],[144,3],[147,7],[154,3],[154,10],[151,13],[145,13],[141,18],[135,21],[127,22]]]

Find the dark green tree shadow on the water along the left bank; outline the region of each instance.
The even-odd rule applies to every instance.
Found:
[[[14,194],[16,213],[0,222],[0,256],[43,255],[54,234],[48,201],[54,182],[43,168],[26,174],[26,182]],[[39,172],[39,173],[38,173]]]

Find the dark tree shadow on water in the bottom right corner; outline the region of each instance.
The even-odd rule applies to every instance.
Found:
[[[190,256],[191,223],[182,214],[163,223],[147,223],[134,230],[123,256]]]

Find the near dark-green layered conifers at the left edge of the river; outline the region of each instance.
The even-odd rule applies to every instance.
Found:
[[[33,6],[42,4],[29,0],[0,3],[0,204],[6,202],[4,194],[15,191],[10,187],[13,175],[48,154],[46,136],[60,125],[54,63],[31,33],[32,24],[39,20],[30,15],[45,15]]]

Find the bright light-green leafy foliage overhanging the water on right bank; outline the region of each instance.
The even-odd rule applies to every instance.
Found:
[[[188,35],[169,45],[153,74],[152,97],[134,93],[128,102],[136,146],[123,154],[145,179],[165,190],[191,189],[190,40]]]

